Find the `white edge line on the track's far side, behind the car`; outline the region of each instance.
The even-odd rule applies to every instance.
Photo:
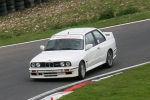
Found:
[[[104,28],[100,28],[100,29],[107,29],[107,28],[118,27],[118,26],[123,26],[123,25],[135,24],[135,23],[144,22],[144,21],[149,21],[149,20],[150,20],[150,19],[145,19],[145,20],[140,20],[140,21],[125,23],[125,24],[119,24],[119,25],[104,27]],[[27,43],[33,43],[33,42],[38,42],[38,41],[44,41],[44,40],[47,40],[47,39],[48,39],[48,38],[46,38],[46,39],[40,39],[40,40],[35,40],[35,41],[29,41],[29,42],[23,42],[23,43],[17,43],[17,44],[12,44],[12,45],[0,46],[0,48],[10,47],[10,46],[16,46],[16,45],[21,45],[21,44],[27,44]]]

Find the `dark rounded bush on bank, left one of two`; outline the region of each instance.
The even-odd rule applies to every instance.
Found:
[[[99,20],[109,19],[114,17],[114,10],[107,9],[100,14]]]

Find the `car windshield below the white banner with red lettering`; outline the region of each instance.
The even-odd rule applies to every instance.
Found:
[[[51,50],[83,50],[83,39],[49,40],[45,47],[45,51]]]

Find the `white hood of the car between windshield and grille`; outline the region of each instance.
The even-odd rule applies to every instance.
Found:
[[[70,61],[83,51],[43,51],[35,56],[31,62]]]

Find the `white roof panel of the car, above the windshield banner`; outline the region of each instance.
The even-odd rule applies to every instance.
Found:
[[[58,32],[55,35],[66,35],[66,34],[71,34],[71,35],[85,35],[86,33],[93,31],[97,28],[70,28],[66,29],[64,31]]]

